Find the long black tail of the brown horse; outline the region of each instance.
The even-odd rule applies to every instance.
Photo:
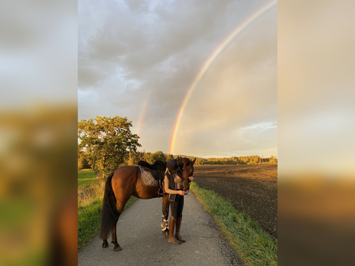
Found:
[[[103,240],[107,239],[107,235],[109,234],[111,228],[117,222],[116,217],[118,212],[116,211],[116,197],[111,184],[112,177],[113,172],[107,178],[102,204],[99,237]]]

